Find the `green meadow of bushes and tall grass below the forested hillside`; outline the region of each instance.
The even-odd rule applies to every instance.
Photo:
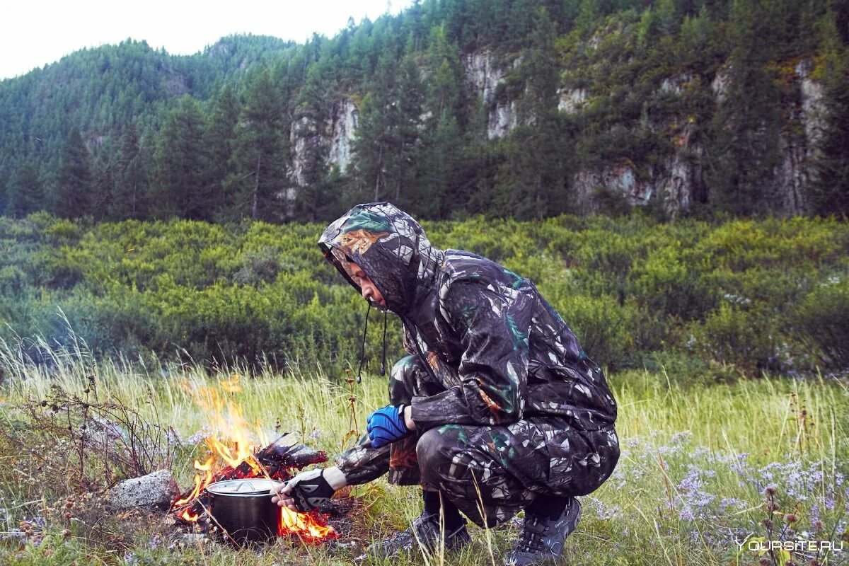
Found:
[[[0,218],[0,563],[346,564],[419,513],[418,490],[381,479],[342,494],[356,502],[344,544],[237,552],[177,537],[161,513],[102,505],[142,470],[191,485],[203,439],[222,433],[201,391],[238,403],[265,437],[290,431],[330,457],[363,433],[386,382],[368,361],[362,384],[346,381],[364,305],[323,265],[320,228]],[[849,542],[844,223],[425,228],[531,277],[608,371],[622,455],[582,498],[564,563],[846,563],[823,545],[757,550]],[[107,409],[127,424],[113,444],[138,440],[132,455],[87,444]],[[475,528],[468,549],[424,562],[498,564],[517,532]]]

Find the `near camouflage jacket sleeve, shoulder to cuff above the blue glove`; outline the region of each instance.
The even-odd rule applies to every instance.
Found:
[[[522,417],[527,388],[531,298],[511,287],[460,280],[441,298],[442,316],[460,340],[461,383],[413,397],[421,430],[441,424],[502,425]]]

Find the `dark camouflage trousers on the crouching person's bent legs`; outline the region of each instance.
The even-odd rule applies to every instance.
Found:
[[[392,368],[393,405],[441,390],[415,356]],[[618,459],[619,440],[612,426],[582,431],[556,416],[508,426],[446,424],[392,444],[389,481],[441,490],[475,524],[494,526],[537,496],[591,493]]]

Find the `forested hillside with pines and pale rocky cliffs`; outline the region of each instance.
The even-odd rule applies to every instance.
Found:
[[[424,0],[305,44],[127,40],[0,82],[0,210],[845,214],[847,22],[825,0]]]

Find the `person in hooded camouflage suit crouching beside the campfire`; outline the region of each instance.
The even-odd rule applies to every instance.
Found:
[[[390,405],[368,417],[368,437],[288,482],[278,505],[310,509],[388,473],[421,485],[424,512],[370,552],[457,549],[465,518],[488,528],[524,510],[505,564],[558,558],[581,516],[576,496],[619,459],[616,401],[570,328],[530,280],[434,248],[388,203],[357,205],[318,244],[370,305],[401,317],[410,355],[392,367]]]

